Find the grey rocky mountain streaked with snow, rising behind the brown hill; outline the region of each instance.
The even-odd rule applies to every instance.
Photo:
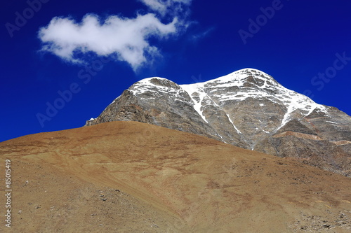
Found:
[[[86,125],[138,121],[351,176],[351,117],[242,69],[204,83],[146,78]]]

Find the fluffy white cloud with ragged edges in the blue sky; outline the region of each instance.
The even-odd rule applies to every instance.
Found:
[[[85,55],[93,52],[98,56],[110,56],[127,62],[136,71],[160,55],[159,48],[150,42],[150,38],[162,40],[177,36],[187,27],[185,18],[180,16],[178,10],[191,2],[140,1],[159,16],[154,13],[139,14],[134,18],[110,15],[103,22],[93,14],[86,14],[81,22],[70,17],[54,17],[46,27],[39,29],[39,39],[43,43],[41,51],[51,52],[72,63],[84,63]],[[171,15],[171,21],[166,24],[161,22],[165,15]]]

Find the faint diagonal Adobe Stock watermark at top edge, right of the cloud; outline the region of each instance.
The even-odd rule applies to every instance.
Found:
[[[286,0],[289,1],[289,0]],[[281,0],[273,0],[272,6],[267,8],[260,8],[262,14],[258,15],[255,20],[249,18],[249,27],[247,31],[239,29],[238,33],[241,41],[246,45],[248,38],[253,38],[254,35],[258,34],[258,31],[267,24],[268,20],[272,20],[277,10],[282,10],[284,4]]]

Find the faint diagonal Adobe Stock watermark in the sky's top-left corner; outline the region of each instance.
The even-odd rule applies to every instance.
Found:
[[[27,21],[32,19],[35,13],[38,13],[39,10],[41,10],[43,3],[48,3],[48,1],[50,0],[27,0],[26,3],[28,7],[22,10],[22,13],[18,11],[15,12],[15,20],[13,23],[6,22],[5,24],[10,37],[13,37],[13,32],[20,31],[22,27],[25,27]]]

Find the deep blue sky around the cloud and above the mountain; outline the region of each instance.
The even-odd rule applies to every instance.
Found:
[[[147,11],[145,5],[135,0],[49,0],[11,37],[6,23],[15,24],[15,13],[22,15],[29,5],[26,1],[3,1],[0,141],[81,127],[143,78],[161,76],[178,84],[194,83],[248,67],[270,74],[296,92],[310,90],[309,96],[317,103],[336,106],[351,115],[351,61],[337,62],[336,73],[331,68],[336,54],[351,59],[351,1],[282,0],[274,16],[261,23],[263,26],[244,44],[238,31],[249,32],[249,19],[256,21],[263,14],[260,8],[272,6],[272,2],[193,0],[187,18],[192,24],[183,34],[161,41],[150,38],[150,43],[159,48],[161,59],[136,73],[126,62],[108,62],[85,84],[79,79],[84,66],[38,52],[42,45],[39,28],[56,16],[70,16],[77,22],[86,13],[133,18],[137,11]],[[91,62],[96,59],[93,57]],[[313,79],[325,71],[333,76],[329,83]],[[77,83],[80,91],[42,127],[37,113],[46,114],[46,103],[53,104],[60,97],[58,91],[69,90],[72,83]]]

